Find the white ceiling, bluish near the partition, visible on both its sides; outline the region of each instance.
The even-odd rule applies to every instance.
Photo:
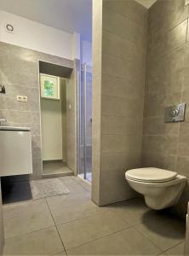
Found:
[[[115,0],[117,1],[117,0]],[[156,0],[135,0],[149,8]],[[0,9],[26,19],[92,38],[92,0],[0,0]]]

